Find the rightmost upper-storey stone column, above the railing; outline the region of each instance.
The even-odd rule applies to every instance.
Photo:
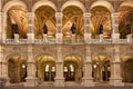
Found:
[[[117,43],[120,39],[119,33],[119,12],[112,13],[112,40],[113,42]]]

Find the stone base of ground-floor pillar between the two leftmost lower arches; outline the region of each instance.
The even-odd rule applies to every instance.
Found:
[[[35,87],[38,85],[37,78],[28,77],[25,80],[24,87]]]

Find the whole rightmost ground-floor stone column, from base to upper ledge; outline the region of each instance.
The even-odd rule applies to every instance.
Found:
[[[110,85],[111,86],[124,86],[122,82],[121,77],[121,60],[120,60],[120,47],[119,44],[114,46],[114,60],[111,63],[111,78],[110,78]]]

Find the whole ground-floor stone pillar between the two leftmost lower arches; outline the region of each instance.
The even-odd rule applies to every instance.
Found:
[[[37,86],[35,70],[37,69],[35,69],[35,61],[33,58],[33,47],[28,44],[28,60],[27,60],[28,76],[27,76],[25,82],[24,82],[25,87]]]

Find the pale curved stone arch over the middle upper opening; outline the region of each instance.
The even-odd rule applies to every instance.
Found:
[[[69,6],[79,7],[83,12],[86,11],[85,7],[83,6],[83,3],[78,1],[78,0],[69,0],[69,1],[64,2],[63,6],[61,7],[61,11],[63,11]]]

